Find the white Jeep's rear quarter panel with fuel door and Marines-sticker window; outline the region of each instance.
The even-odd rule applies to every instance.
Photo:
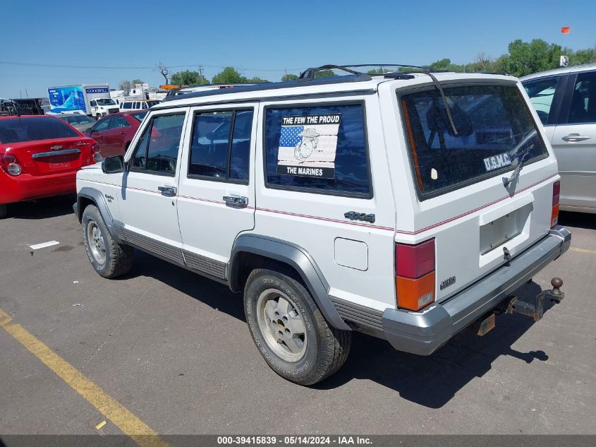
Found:
[[[395,208],[377,96],[264,102],[261,114],[255,233],[308,251],[341,315],[395,306]]]

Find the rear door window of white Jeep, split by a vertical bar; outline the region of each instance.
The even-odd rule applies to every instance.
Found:
[[[252,109],[196,114],[188,175],[248,181],[252,129]]]

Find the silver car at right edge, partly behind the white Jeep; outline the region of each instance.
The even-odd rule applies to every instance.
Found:
[[[596,64],[521,78],[559,162],[561,210],[596,213]]]

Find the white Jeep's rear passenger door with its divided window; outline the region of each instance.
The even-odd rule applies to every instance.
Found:
[[[226,278],[236,236],[255,225],[255,105],[191,109],[178,222],[190,268]]]

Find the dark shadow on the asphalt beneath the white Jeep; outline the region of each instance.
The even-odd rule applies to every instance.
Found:
[[[140,251],[135,252],[135,267],[123,279],[137,275],[155,278],[213,309],[245,321],[242,295],[231,292],[226,285]],[[541,290],[535,282],[530,282],[518,290],[518,297],[534,297]],[[545,302],[545,313],[552,306]],[[492,362],[501,355],[526,363],[547,360],[547,353],[540,350],[543,345],[529,352],[511,347],[533,324],[532,318],[520,314],[497,316],[496,327],[484,337],[463,330],[428,357],[399,352],[385,340],[354,333],[346,364],[313,388],[329,390],[353,379],[367,379],[397,391],[413,403],[440,408],[469,381],[490,371]]]

